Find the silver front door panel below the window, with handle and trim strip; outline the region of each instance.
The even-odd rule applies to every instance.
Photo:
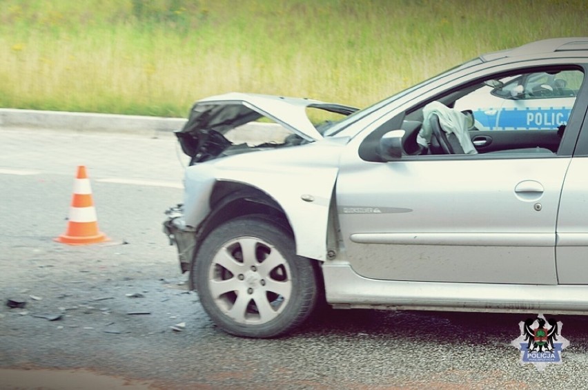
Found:
[[[576,141],[579,124],[568,127],[562,145]],[[356,273],[382,280],[558,282],[556,223],[569,148],[376,162],[358,156],[357,147],[351,143],[342,156],[336,186],[341,239]]]

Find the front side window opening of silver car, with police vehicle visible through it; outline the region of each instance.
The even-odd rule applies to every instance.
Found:
[[[583,79],[577,69],[549,68],[478,80],[420,102],[393,127],[400,125],[404,139],[418,143],[403,144],[409,155],[555,156]],[[384,127],[389,124],[374,134],[384,134]],[[378,161],[370,157],[371,138],[360,155]]]

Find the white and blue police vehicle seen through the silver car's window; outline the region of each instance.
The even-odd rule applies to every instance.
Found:
[[[535,72],[486,81],[455,101],[478,130],[562,130],[582,84],[580,70]]]

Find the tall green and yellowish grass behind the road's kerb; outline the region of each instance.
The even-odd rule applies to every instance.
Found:
[[[241,91],[361,107],[587,22],[579,0],[0,0],[0,106],[184,117]]]

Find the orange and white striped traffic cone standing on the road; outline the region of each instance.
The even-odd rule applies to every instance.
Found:
[[[92,200],[92,188],[90,188],[86,167],[78,166],[68,217],[68,228],[66,233],[55,238],[55,241],[69,245],[88,245],[108,240],[110,239],[98,230],[96,209]]]

